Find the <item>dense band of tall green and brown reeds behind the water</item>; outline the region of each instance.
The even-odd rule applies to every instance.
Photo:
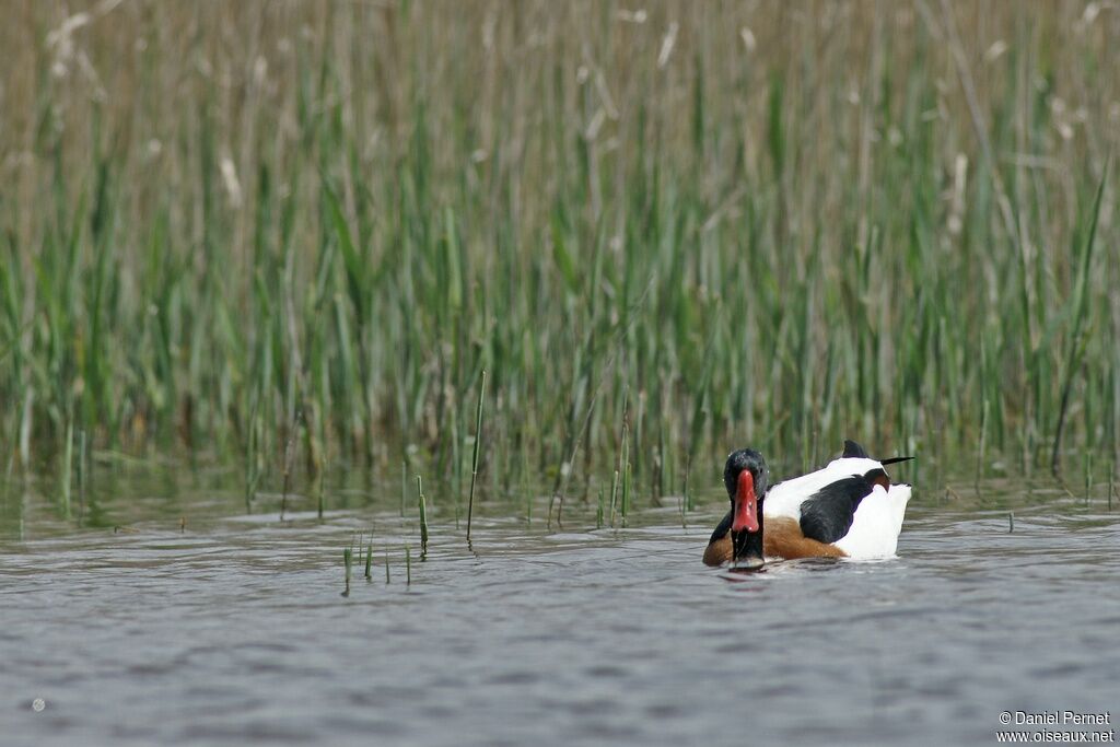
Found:
[[[505,486],[587,495],[626,419],[612,521],[747,443],[1116,460],[1113,8],[77,4],[0,28],[8,468],[251,502],[295,443],[458,506],[484,368]]]

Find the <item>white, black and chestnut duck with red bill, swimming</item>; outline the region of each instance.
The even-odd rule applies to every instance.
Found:
[[[874,459],[849,439],[822,469],[772,486],[762,454],[732,451],[724,468],[731,510],[703,561],[755,568],[766,558],[893,558],[911,486],[892,483],[885,467],[913,458]]]

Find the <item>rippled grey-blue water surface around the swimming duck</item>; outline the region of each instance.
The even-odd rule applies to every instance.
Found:
[[[420,562],[395,506],[281,523],[200,483],[129,489],[72,507],[80,531],[0,499],[4,745],[995,744],[1001,711],[1120,716],[1102,497],[920,491],[897,560],[736,575],[700,562],[715,493],[688,527],[670,506],[619,532],[492,506],[473,551],[437,501]]]

